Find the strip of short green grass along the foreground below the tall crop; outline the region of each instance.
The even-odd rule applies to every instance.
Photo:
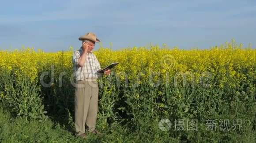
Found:
[[[157,122],[156,122],[157,123]],[[73,131],[65,125],[60,125],[51,120],[45,122],[26,122],[24,118],[14,118],[8,110],[0,106],[0,143],[194,143],[210,141],[213,143],[229,141],[233,143],[255,143],[256,132],[246,134],[205,136],[207,132],[192,134],[195,140],[186,140],[184,136],[174,137],[175,132],[163,132],[155,123],[145,122],[135,131],[129,130],[125,125],[112,124],[101,134],[87,134],[87,139],[76,138]],[[231,136],[230,136],[231,135]],[[226,137],[226,138],[224,138]],[[184,141],[182,141],[184,140]]]

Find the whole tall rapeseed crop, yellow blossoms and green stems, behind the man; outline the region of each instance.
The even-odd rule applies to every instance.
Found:
[[[26,120],[43,122],[50,116],[72,125],[74,50],[0,50],[0,104]],[[171,122],[196,120],[198,132],[208,138],[252,134],[256,121],[255,49],[232,41],[209,50],[179,50],[164,44],[120,50],[100,47],[93,52],[101,68],[120,63],[111,75],[98,80],[98,129],[122,123],[131,131],[148,132],[158,129],[161,119],[169,118]],[[244,130],[208,132],[209,119],[241,119]],[[163,136],[195,140],[197,132],[170,130]]]

